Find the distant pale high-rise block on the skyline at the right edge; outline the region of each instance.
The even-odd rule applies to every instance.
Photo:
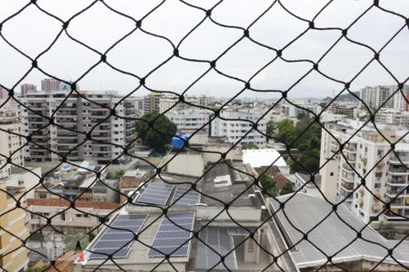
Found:
[[[404,85],[402,92],[396,92],[397,85],[389,86],[367,86],[359,92],[359,98],[371,109],[390,108],[395,110],[406,110],[405,98],[409,92],[409,85]],[[391,97],[392,96],[392,97]],[[364,107],[364,104],[362,105]]]

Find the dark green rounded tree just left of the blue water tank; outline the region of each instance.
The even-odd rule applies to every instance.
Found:
[[[176,131],[175,123],[157,112],[146,113],[136,121],[136,132],[142,143],[157,152],[165,151],[165,145],[172,141]]]

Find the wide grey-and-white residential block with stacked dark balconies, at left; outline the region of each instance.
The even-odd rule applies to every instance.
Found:
[[[68,94],[38,92],[22,99],[38,113],[23,112],[25,135],[33,139],[25,148],[25,158],[43,162],[66,156],[67,160],[98,164],[131,160],[123,154],[124,149],[131,154],[135,151],[135,98],[123,100],[115,91],[72,93],[67,98]],[[52,115],[55,124],[50,124]]]

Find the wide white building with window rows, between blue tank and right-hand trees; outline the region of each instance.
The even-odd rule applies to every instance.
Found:
[[[232,108],[220,112],[221,118],[215,118],[211,123],[211,136],[226,137],[227,142],[240,144],[254,143],[259,148],[264,148],[266,143],[266,123],[261,115],[255,114],[252,108]],[[223,119],[222,119],[223,118]],[[257,130],[253,129],[253,123],[258,121]],[[259,131],[263,132],[260,133]],[[247,134],[248,132],[248,134]],[[241,140],[243,138],[243,140]]]

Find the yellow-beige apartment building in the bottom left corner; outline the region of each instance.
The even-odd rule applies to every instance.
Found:
[[[23,187],[9,187],[0,180],[0,267],[5,271],[23,271],[28,266],[28,250],[22,243],[29,235],[24,193]],[[21,208],[15,208],[15,199],[10,195],[15,199],[23,197]]]

